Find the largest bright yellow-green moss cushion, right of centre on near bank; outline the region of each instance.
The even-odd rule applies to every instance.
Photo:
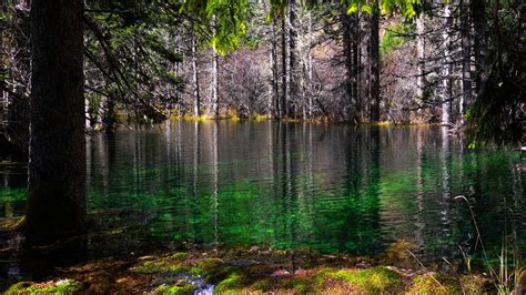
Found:
[[[402,276],[383,266],[360,271],[324,271],[322,277],[348,283],[368,294],[395,293],[403,288]]]

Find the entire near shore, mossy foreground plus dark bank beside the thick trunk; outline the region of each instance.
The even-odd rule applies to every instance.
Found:
[[[112,228],[21,250],[21,244],[17,244],[19,234],[6,231],[14,222],[0,220],[3,245],[0,271],[11,276],[0,279],[6,294],[482,294],[496,291],[484,273],[449,271],[446,274],[436,272],[439,267],[434,265],[424,267],[412,255],[407,241],[399,241],[371,258],[259,246],[148,244],[125,231]],[[83,246],[75,240],[83,241],[80,243]],[[79,254],[87,248],[97,255]]]

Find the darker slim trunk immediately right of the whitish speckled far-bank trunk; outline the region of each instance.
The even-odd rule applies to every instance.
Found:
[[[464,114],[472,103],[472,38],[469,27],[469,0],[462,0],[462,99],[459,104],[461,121],[464,121]]]

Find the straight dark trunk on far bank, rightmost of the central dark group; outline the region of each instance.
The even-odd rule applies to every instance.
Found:
[[[373,12],[371,13],[371,47],[370,47],[370,67],[371,67],[371,122],[380,121],[380,7],[375,0]]]

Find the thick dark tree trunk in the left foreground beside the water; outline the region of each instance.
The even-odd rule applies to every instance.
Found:
[[[53,238],[84,228],[85,140],[81,0],[31,4],[31,128],[22,228]]]

